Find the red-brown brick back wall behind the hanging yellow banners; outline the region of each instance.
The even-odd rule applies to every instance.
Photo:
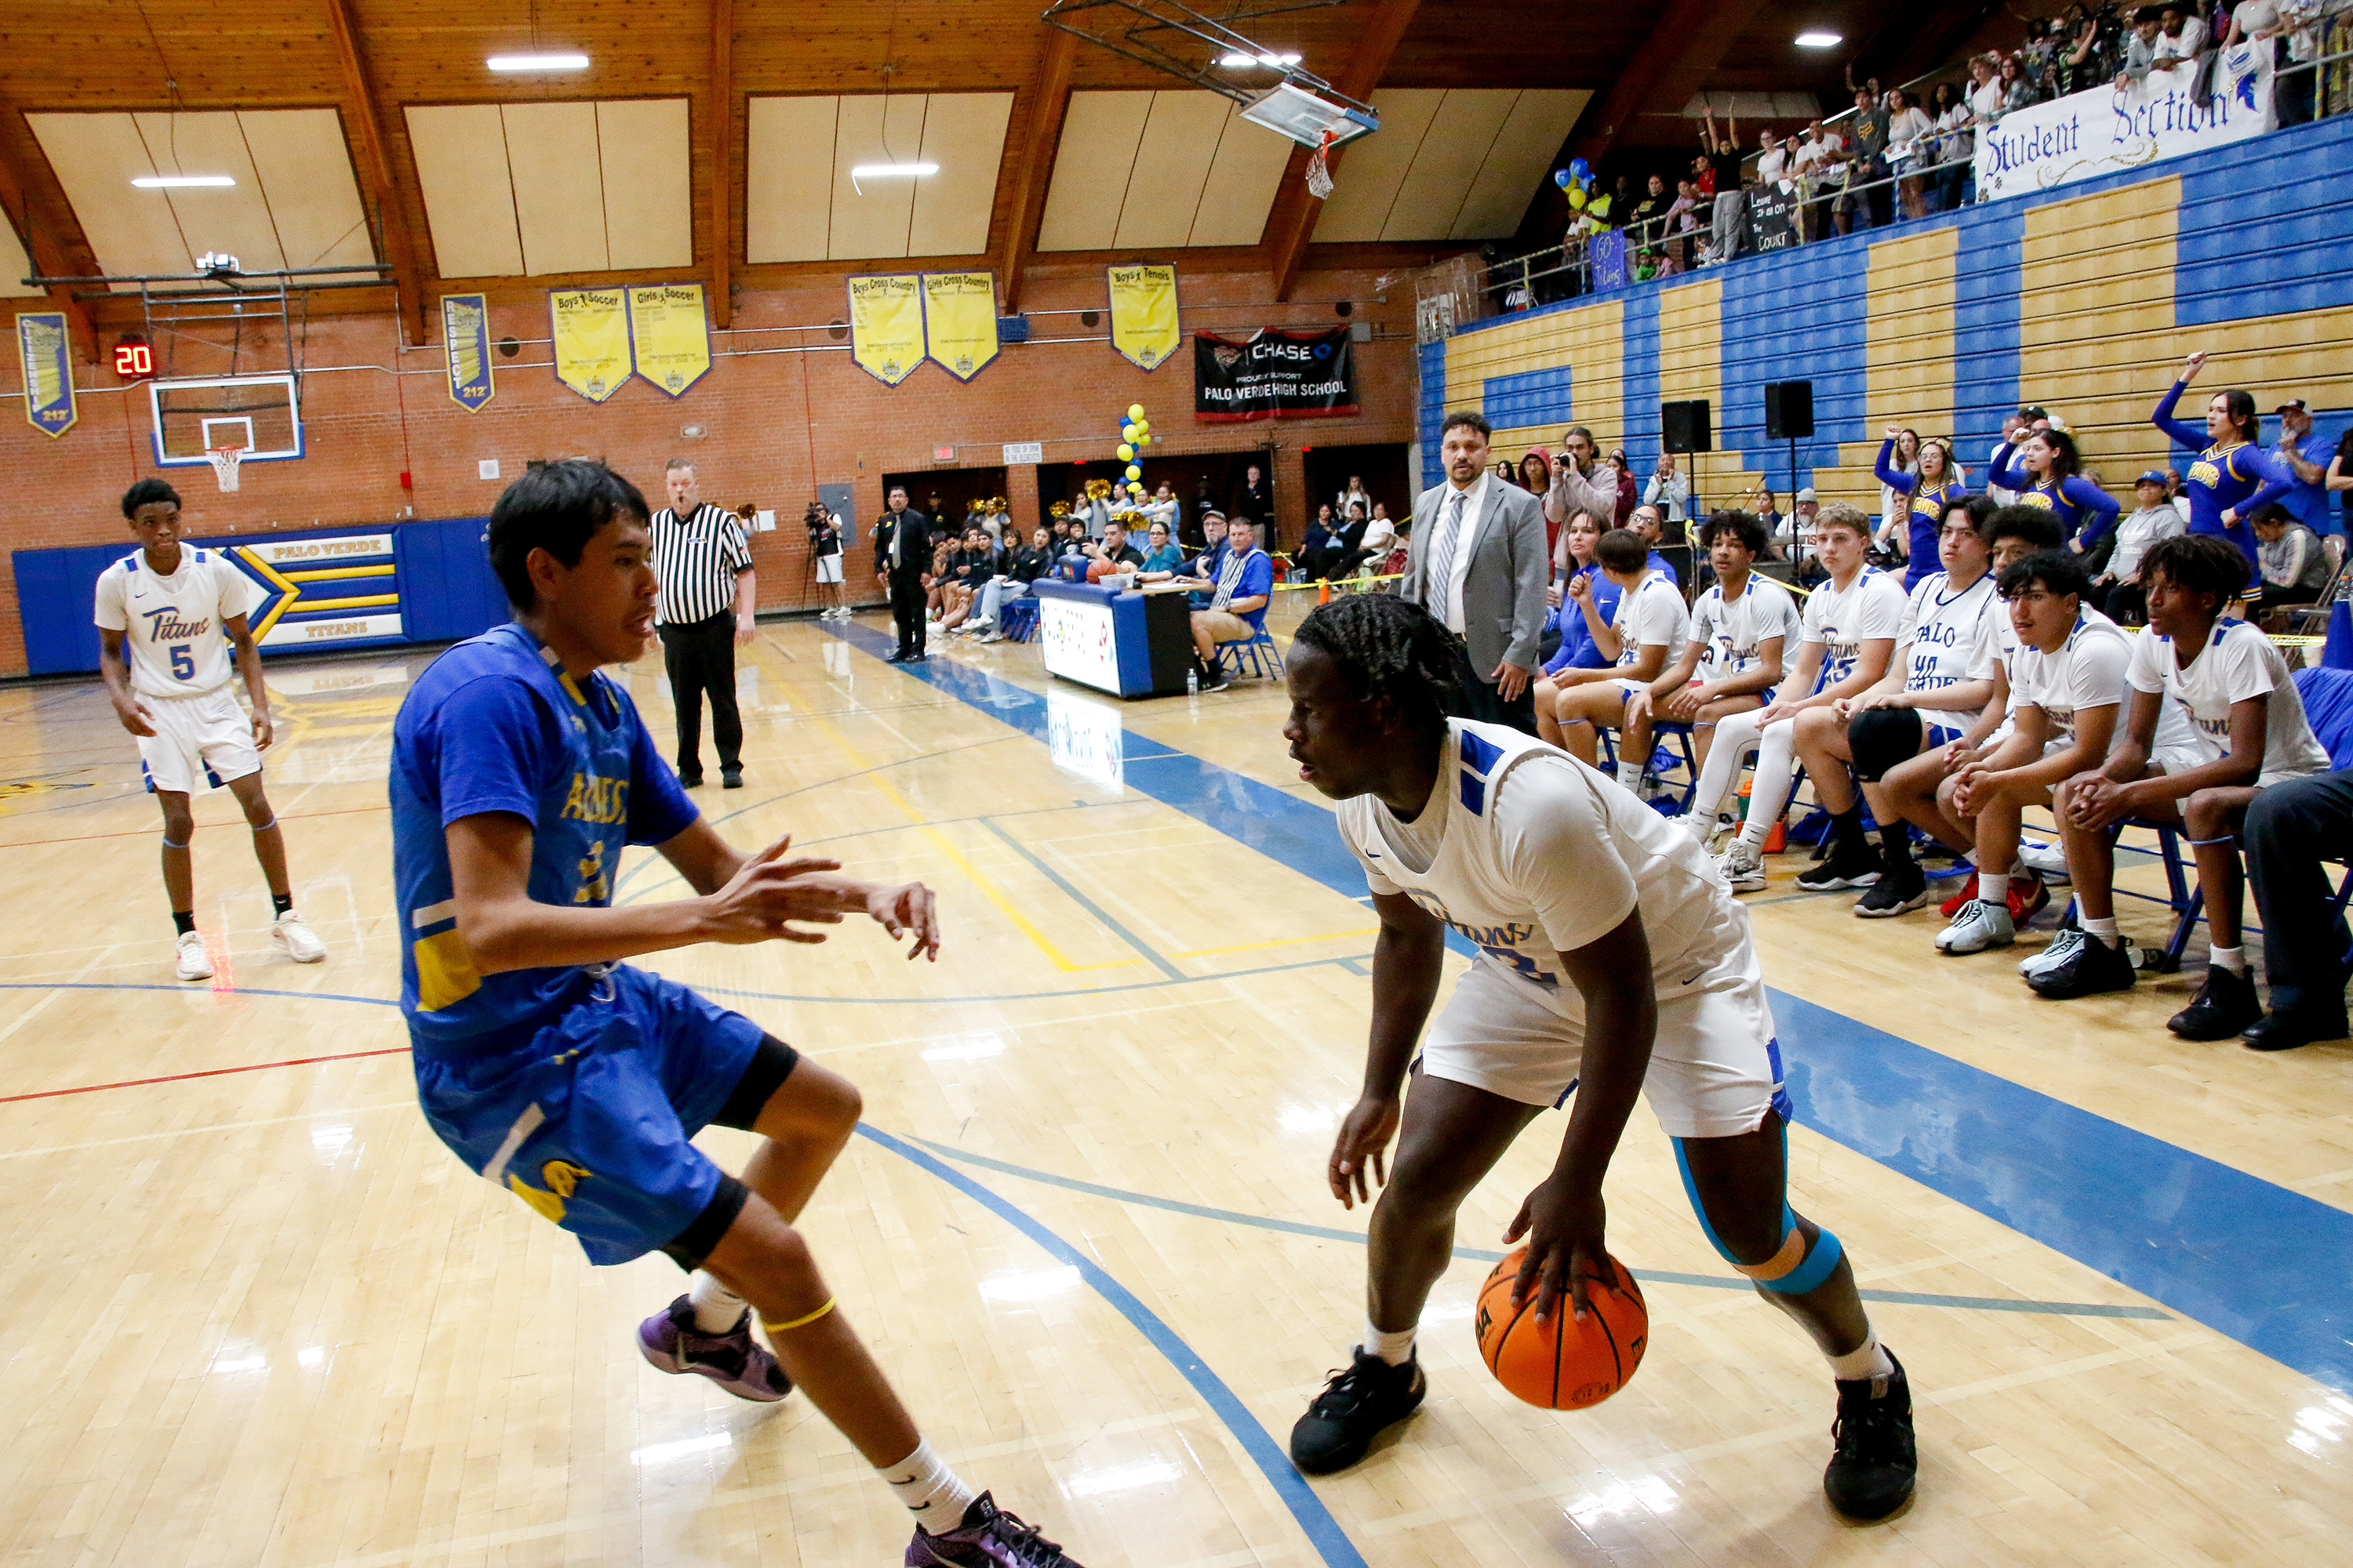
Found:
[[[315,317],[304,334],[304,428],[308,454],[287,463],[247,463],[238,494],[219,494],[212,470],[158,470],[141,388],[120,388],[111,369],[75,364],[80,423],[49,440],[24,421],[24,404],[0,404],[0,465],[9,475],[0,524],[9,550],[125,541],[120,496],[132,480],[165,473],[186,498],[198,536],[254,529],[374,524],[407,515],[482,515],[504,480],[480,480],[496,458],[506,480],[527,458],[593,454],[616,465],[659,505],[661,463],[694,458],[704,498],[774,508],[779,527],[753,536],[760,607],[814,607],[800,508],[819,482],[847,480],[864,520],[882,510],[882,473],[932,465],[934,447],[995,465],[1002,442],[1045,442],[1045,458],[1108,458],[1118,416],[1141,402],[1153,421],[1153,451],[1240,451],[1273,440],[1278,484],[1297,477],[1301,442],[1405,442],[1414,423],[1412,294],[1374,301],[1372,273],[1308,273],[1287,306],[1271,301],[1259,273],[1186,273],[1179,303],[1186,331],[1247,331],[1261,324],[1339,324],[1334,301],[1353,301],[1353,320],[1391,336],[1355,346],[1362,414],[1355,418],[1278,421],[1273,425],[1195,425],[1191,353],[1155,374],[1118,357],[1108,341],[1012,343],[969,383],[936,364],[896,388],[861,371],[824,327],[842,317],[838,284],[736,296],[736,331],[713,334],[720,355],[682,397],[631,378],[602,404],[555,381],[548,364],[548,315],[539,292],[492,299],[492,341],[513,336],[520,353],[496,360],[499,395],[478,414],[447,397],[440,346],[398,350],[393,317]],[[1108,322],[1080,324],[1056,310],[1101,310],[1099,270],[1033,273],[1026,287],[1038,339],[1106,339]],[[285,369],[282,343],[245,334],[245,371]],[[536,339],[536,341],[534,341]],[[111,341],[111,339],[108,339]],[[774,353],[802,343],[821,353]],[[395,374],[398,367],[398,374]],[[181,346],[179,376],[226,374],[226,353]],[[699,440],[680,435],[701,425]],[[400,489],[409,473],[414,491]],[[1289,484],[1297,491],[1297,484]],[[1007,477],[1014,512],[1028,527],[1038,512],[1035,470]],[[1301,496],[1285,494],[1287,508]],[[1409,503],[1409,498],[1402,498]],[[1398,505],[1393,503],[1395,512]],[[1285,512],[1289,534],[1299,517]],[[861,545],[864,548],[864,545]],[[854,597],[875,599],[856,557],[847,571]],[[861,595],[861,585],[866,592]],[[85,614],[78,609],[75,614]],[[0,578],[0,675],[21,675],[24,637],[14,576]]]

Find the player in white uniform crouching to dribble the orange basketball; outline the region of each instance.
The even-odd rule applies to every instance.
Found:
[[[1586,1279],[1607,1276],[1602,1175],[1640,1093],[1708,1241],[1831,1361],[1824,1490],[1885,1519],[1913,1490],[1911,1392],[1838,1237],[1788,1208],[1791,1107],[1748,917],[1692,837],[1628,790],[1513,729],[1449,719],[1457,661],[1454,635],[1393,595],[1315,609],[1289,656],[1285,741],[1339,802],[1381,917],[1365,1091],[1327,1168],[1351,1208],[1372,1197],[1367,1166],[1381,1185],[1367,1326],[1292,1427],[1292,1462],[1346,1469],[1421,1403],[1414,1328],[1454,1255],[1454,1213],[1572,1088],[1560,1159],[1504,1241],[1527,1239],[1515,1302],[1586,1314]],[[1414,1060],[1449,926],[1480,959]]]

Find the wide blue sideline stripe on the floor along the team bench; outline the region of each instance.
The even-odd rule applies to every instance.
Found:
[[[861,625],[835,637],[892,644]],[[953,661],[901,675],[1047,741],[1047,698]],[[1129,766],[1132,790],[1344,898],[1365,872],[1332,813],[1198,757]],[[2353,1394],[2353,1213],[2094,1117],[1958,1058],[1772,992],[1798,1119],[2306,1378]],[[2064,1013],[2054,1016],[2064,1018]],[[2242,1072],[2259,1074],[2259,1060]]]

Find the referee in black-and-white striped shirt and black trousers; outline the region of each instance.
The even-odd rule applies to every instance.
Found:
[[[654,630],[671,672],[678,712],[678,783],[704,783],[704,693],[711,693],[711,741],[720,748],[720,785],[744,788],[744,719],[734,705],[734,644],[751,642],[751,607],[760,592],[744,524],[704,501],[694,463],[664,470],[671,505],[654,512]]]

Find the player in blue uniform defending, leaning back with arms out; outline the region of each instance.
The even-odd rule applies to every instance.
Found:
[[[729,846],[600,665],[654,637],[645,496],[602,463],[534,463],[489,520],[515,621],[428,668],[393,724],[400,1011],[449,1150],[579,1237],[591,1262],[668,1253],[694,1279],[638,1345],[744,1399],[798,1382],[915,1514],[911,1566],[1068,1563],[915,1432],[793,1220],[859,1119],[859,1091],[758,1023],[624,964],[692,943],[819,943],[845,914],[939,954],[920,882]],[[624,844],[694,898],[612,907]],[[734,1178],[689,1140],[762,1135]],[[774,1354],[751,1333],[760,1309]],[[781,1366],[779,1366],[781,1363]]]

